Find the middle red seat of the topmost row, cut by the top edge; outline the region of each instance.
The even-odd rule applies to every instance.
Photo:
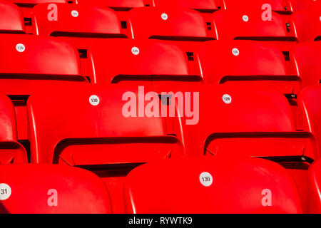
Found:
[[[224,3],[223,0],[156,0],[156,6],[161,6],[164,9],[195,9],[204,13],[213,13],[214,11],[223,8]]]

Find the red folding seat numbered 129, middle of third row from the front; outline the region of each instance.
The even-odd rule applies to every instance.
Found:
[[[108,47],[108,53],[105,48]],[[193,52],[158,40],[108,39],[91,46],[88,56],[94,83],[124,83],[158,88],[182,88],[202,83]]]

